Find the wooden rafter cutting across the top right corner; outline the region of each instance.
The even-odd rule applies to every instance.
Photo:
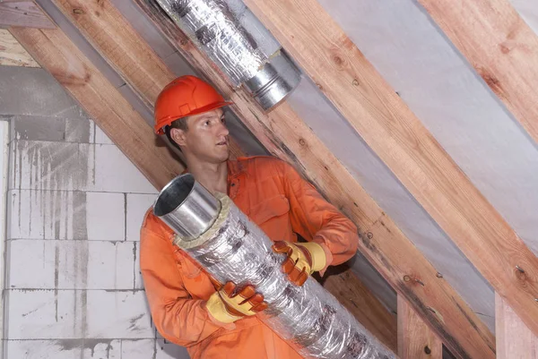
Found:
[[[538,36],[508,0],[419,0],[538,143]]]

